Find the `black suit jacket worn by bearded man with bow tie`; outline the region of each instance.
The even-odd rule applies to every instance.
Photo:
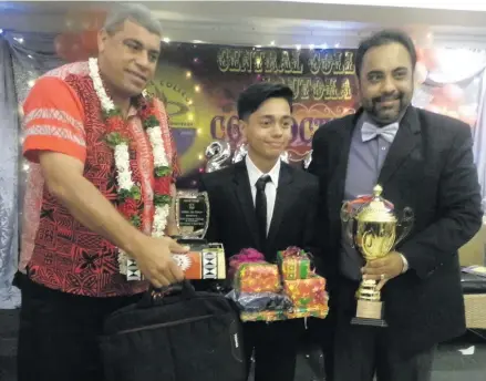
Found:
[[[322,125],[314,134],[309,171],[320,179],[321,245],[331,300],[355,315],[358,284],[339,276],[340,208],[351,134],[362,111]],[[457,249],[482,224],[480,193],[473,162],[471,127],[457,120],[410,106],[379,177],[383,196],[399,210],[412,207],[415,223],[397,250],[410,270],[383,291],[387,334],[413,353],[465,331]],[[343,317],[340,317],[343,318]]]

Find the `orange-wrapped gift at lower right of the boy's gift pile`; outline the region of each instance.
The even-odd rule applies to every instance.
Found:
[[[283,289],[294,309],[328,307],[325,279],[322,277],[312,276],[308,279],[286,280]]]

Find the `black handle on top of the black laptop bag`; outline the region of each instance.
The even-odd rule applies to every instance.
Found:
[[[193,285],[186,279],[180,284],[175,284],[164,288],[148,287],[148,291],[144,294],[138,301],[139,308],[151,308],[163,305],[172,305],[175,302],[193,299],[197,296]]]

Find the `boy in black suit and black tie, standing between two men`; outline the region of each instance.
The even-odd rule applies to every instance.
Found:
[[[221,243],[228,257],[255,248],[276,262],[277,251],[289,246],[314,251],[318,181],[280,161],[291,138],[292,96],[281,84],[257,83],[245,90],[238,116],[248,155],[200,179],[210,204],[206,237]],[[244,325],[248,365],[255,349],[256,381],[293,381],[301,333],[300,319]]]

